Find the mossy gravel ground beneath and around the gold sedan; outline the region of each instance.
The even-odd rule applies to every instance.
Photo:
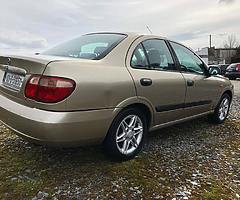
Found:
[[[228,120],[197,119],[150,135],[136,159],[101,147],[52,149],[0,124],[0,199],[240,199],[240,81]]]

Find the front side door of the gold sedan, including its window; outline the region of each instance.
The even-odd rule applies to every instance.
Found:
[[[170,42],[187,85],[185,117],[208,112],[218,96],[219,84],[208,75],[204,62],[190,49]]]

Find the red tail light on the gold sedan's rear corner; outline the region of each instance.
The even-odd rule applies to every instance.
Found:
[[[25,96],[43,103],[57,103],[75,89],[75,82],[67,78],[33,75],[25,87]]]

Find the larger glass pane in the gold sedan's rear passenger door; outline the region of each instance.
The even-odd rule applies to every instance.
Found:
[[[151,39],[143,42],[149,66],[153,69],[176,70],[171,53],[164,40]]]

